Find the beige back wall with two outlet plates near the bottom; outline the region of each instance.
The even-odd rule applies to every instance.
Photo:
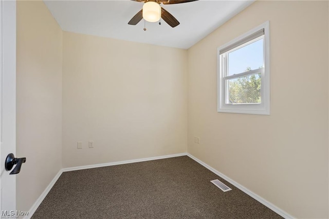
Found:
[[[187,50],[63,33],[63,167],[183,153],[186,136]]]

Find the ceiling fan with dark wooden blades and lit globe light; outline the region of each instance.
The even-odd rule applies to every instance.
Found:
[[[163,5],[172,5],[172,4],[180,4],[180,3],[188,3],[194,2],[198,0],[131,0],[134,2],[143,2],[143,8],[133,16],[133,18],[128,22],[130,25],[136,25],[142,19],[148,22],[157,22],[160,19],[167,22],[171,27],[176,27],[179,25],[179,22],[173,15],[171,15],[168,11],[160,6],[162,3]],[[159,22],[159,24],[161,24]],[[144,30],[146,30],[144,28]]]

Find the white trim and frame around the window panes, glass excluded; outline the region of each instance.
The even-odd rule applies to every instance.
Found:
[[[264,29],[264,66],[261,72],[261,103],[246,103],[246,104],[226,104],[225,103],[225,80],[224,72],[221,69],[223,60],[220,56],[220,50],[247,38],[249,35]],[[270,38],[269,38],[269,21],[264,24],[242,34],[234,40],[217,48],[217,112],[220,113],[242,113],[242,114],[261,114],[269,115],[270,113]],[[248,72],[252,74],[252,71]],[[243,73],[244,74],[244,73]],[[247,74],[248,75],[248,74]],[[229,77],[229,76],[228,76]],[[226,77],[226,79],[228,78]]]

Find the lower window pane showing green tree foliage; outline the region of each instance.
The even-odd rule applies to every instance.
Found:
[[[261,73],[227,80],[227,104],[261,103]]]

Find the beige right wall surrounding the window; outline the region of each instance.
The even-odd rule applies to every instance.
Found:
[[[217,113],[216,48],[267,20],[270,116]],[[327,218],[328,2],[255,2],[188,66],[188,152],[293,216]]]

